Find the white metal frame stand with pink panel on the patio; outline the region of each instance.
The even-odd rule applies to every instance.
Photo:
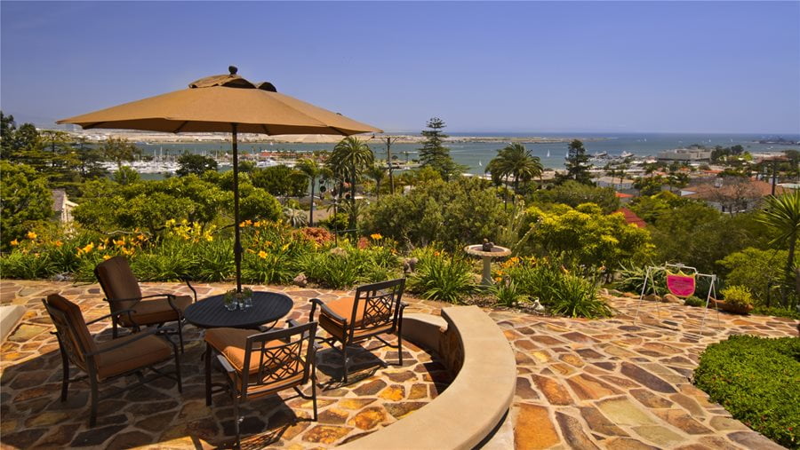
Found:
[[[700,323],[700,329],[702,329],[706,325],[706,315],[708,314],[708,304],[711,301],[711,294],[714,294],[716,298],[716,275],[711,275],[708,273],[700,273],[697,271],[697,268],[691,267],[684,264],[669,264],[664,263],[664,265],[650,265],[647,267],[647,272],[644,274],[644,284],[642,285],[642,293],[639,295],[639,302],[636,304],[636,317],[634,317],[634,323],[639,318],[639,308],[642,306],[642,301],[644,300],[644,293],[647,291],[647,280],[650,280],[650,286],[652,288],[652,292],[656,292],[656,285],[655,285],[655,278],[654,274],[657,271],[664,271],[667,272],[667,290],[670,294],[680,298],[688,298],[694,295],[695,290],[697,289],[697,279],[698,277],[705,277],[709,280],[708,283],[708,293],[706,295],[706,304],[705,308],[703,308],[703,320]],[[719,309],[716,307],[716,302],[714,304],[714,308],[716,309],[716,325],[719,326]],[[660,319],[661,317],[661,309],[660,309],[660,302],[656,302],[656,312]]]

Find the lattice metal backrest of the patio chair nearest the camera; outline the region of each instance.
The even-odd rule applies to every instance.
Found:
[[[244,367],[258,359],[258,370],[244,370],[242,395],[266,387],[280,390],[308,382],[314,364],[316,322],[249,336],[245,346]]]

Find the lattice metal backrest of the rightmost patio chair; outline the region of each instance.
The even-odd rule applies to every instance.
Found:
[[[354,324],[352,333],[369,333],[377,328],[391,326],[391,331],[397,328],[397,318],[400,313],[400,301],[405,288],[405,279],[381,281],[380,283],[367,284],[356,288],[356,301],[353,303],[353,315],[348,323]],[[361,320],[358,320],[361,312]]]

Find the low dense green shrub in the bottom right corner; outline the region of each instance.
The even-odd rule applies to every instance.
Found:
[[[731,336],[709,345],[694,383],[748,427],[800,448],[800,339]]]

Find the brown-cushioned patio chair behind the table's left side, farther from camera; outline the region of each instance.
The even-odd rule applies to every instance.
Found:
[[[103,261],[94,268],[94,276],[100,282],[100,287],[105,293],[105,300],[111,308],[112,333],[117,336],[117,327],[132,328],[139,331],[140,327],[155,325],[162,328],[164,323],[177,322],[177,332],[160,329],[166,334],[177,334],[180,340],[180,352],[183,352],[183,310],[189,304],[197,301],[195,288],[191,296],[175,296],[173,294],[154,294],[142,296],[139,281],[133,275],[131,266],[125,257],[112,257]],[[119,314],[117,312],[124,311]]]

